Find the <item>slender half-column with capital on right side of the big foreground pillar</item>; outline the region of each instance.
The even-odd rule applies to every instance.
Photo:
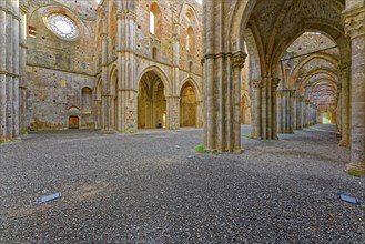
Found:
[[[241,153],[241,70],[244,67],[245,54],[242,52],[233,55],[233,150]]]

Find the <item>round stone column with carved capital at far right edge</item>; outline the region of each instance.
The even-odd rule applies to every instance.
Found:
[[[348,9],[345,30],[351,38],[351,163],[346,171],[365,176],[365,2]]]

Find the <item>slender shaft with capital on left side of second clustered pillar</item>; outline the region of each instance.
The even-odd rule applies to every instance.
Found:
[[[252,88],[253,88],[253,93],[254,93],[254,122],[252,124],[253,126],[253,134],[252,136],[255,139],[262,139],[261,138],[261,89],[262,89],[263,82],[262,80],[253,80],[252,81]]]

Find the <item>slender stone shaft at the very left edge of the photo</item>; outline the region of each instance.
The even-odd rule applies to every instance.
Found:
[[[0,142],[7,138],[7,10],[0,1]]]

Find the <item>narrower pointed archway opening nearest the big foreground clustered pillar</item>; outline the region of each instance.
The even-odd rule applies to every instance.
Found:
[[[196,93],[190,82],[184,84],[181,90],[180,126],[196,126]]]

